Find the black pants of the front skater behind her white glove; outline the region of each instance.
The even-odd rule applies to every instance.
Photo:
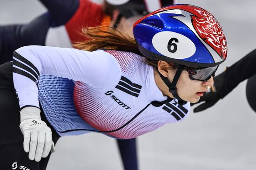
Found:
[[[24,166],[30,170],[46,170],[49,157],[42,158],[40,162],[31,161],[28,153],[23,149],[23,134],[20,131],[20,106],[13,87],[12,62],[0,65],[0,163],[1,170],[19,169]],[[54,144],[60,136],[49,124],[43,110],[41,119],[52,130]]]

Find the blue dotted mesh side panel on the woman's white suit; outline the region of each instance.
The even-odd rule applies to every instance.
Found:
[[[39,101],[45,116],[54,129],[61,135],[79,135],[91,129],[76,112],[73,100],[74,82],[66,78],[40,75]],[[76,131],[74,131],[76,130]],[[70,131],[67,133],[63,133]]]

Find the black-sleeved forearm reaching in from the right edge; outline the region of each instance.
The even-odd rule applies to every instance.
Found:
[[[240,82],[256,75],[256,49],[229,67],[226,73],[223,87],[220,89],[222,98],[236,88]]]

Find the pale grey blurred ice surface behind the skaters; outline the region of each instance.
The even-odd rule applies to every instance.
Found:
[[[100,3],[101,0],[94,0]],[[200,6],[222,25],[228,57],[221,73],[256,48],[255,0],[179,0]],[[28,23],[46,8],[37,0],[0,0],[0,25]],[[47,45],[70,46],[65,29],[51,29]],[[250,69],[250,68],[249,68]],[[256,113],[241,83],[214,107],[137,139],[140,170],[256,170]],[[192,107],[193,110],[194,107]],[[63,137],[47,170],[122,170],[116,140],[102,134]]]

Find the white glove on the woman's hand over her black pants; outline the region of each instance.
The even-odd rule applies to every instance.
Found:
[[[40,109],[25,107],[20,111],[20,130],[24,135],[24,151],[29,152],[30,160],[39,162],[55,151],[52,131],[40,118]]]

